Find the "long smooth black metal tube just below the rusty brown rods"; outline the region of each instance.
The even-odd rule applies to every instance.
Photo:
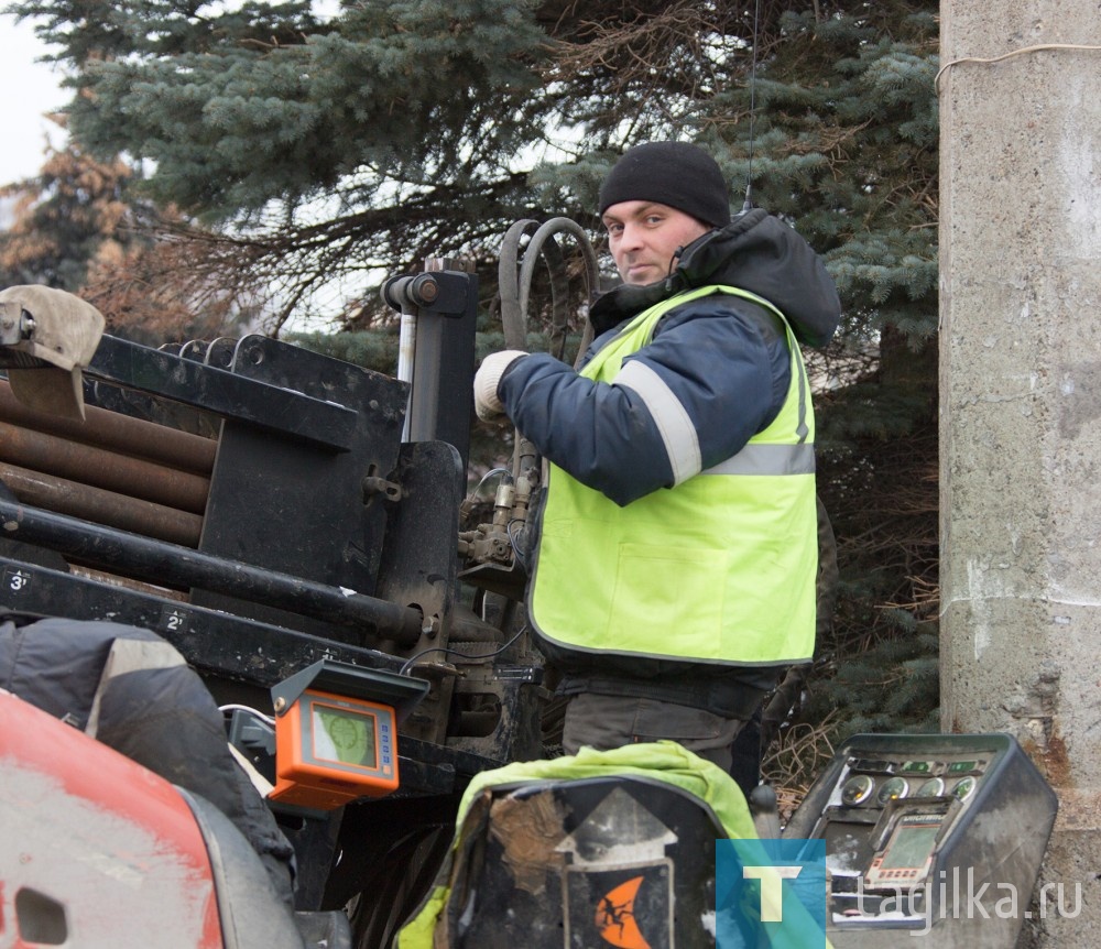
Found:
[[[0,499],[0,536],[163,586],[201,587],[414,645],[428,623],[421,611],[251,564],[212,557]]]

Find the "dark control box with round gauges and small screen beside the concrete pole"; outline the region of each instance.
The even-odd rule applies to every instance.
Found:
[[[784,837],[826,841],[837,947],[897,945],[901,929],[941,947],[1012,947],[1056,810],[1007,734],[864,734],[841,746]]]

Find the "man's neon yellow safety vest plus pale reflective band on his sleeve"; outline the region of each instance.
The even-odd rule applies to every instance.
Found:
[[[628,357],[669,309],[716,293],[783,320],[792,381],[776,418],[701,471],[687,412],[656,372]],[[538,633],[595,654],[744,665],[809,658],[818,564],[814,414],[783,315],[735,287],[702,287],[640,314],[581,374],[639,394],[662,433],[675,484],[620,508],[549,466],[528,593]]]

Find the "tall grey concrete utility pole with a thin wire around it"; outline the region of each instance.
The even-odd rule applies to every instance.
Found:
[[[1046,774],[1059,817],[1046,918],[1033,907],[1028,941],[1093,949],[1101,8],[941,0],[940,11],[942,728],[1010,732]]]

